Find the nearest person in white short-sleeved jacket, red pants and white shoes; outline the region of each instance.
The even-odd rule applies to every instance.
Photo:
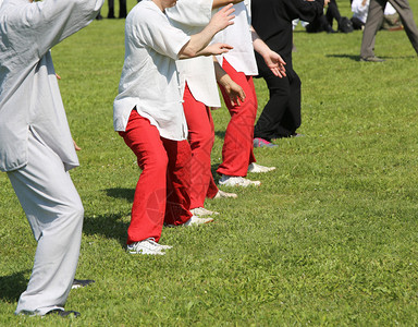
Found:
[[[194,226],[212,221],[189,211],[190,158],[175,60],[229,51],[209,45],[213,35],[233,24],[231,5],[213,15],[200,33],[188,36],[170,24],[165,9],[176,0],[143,0],[125,26],[125,61],[113,104],[114,130],[143,169],[135,190],[127,251],[163,255],[163,223]]]

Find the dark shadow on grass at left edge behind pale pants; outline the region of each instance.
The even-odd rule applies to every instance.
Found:
[[[0,276],[0,299],[5,302],[17,302],[19,296],[26,290],[27,278],[30,270],[22,270],[9,276]]]

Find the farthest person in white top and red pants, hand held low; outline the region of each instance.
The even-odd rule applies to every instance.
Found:
[[[284,62],[254,31],[250,24],[250,1],[236,3],[234,8],[235,24],[217,34],[213,40],[231,44],[234,47],[233,50],[218,56],[217,59],[228,75],[244,89],[246,98],[238,105],[231,104],[226,89],[220,85],[231,120],[225,131],[222,164],[217,172],[221,175],[220,185],[259,185],[259,181],[245,178],[247,172],[267,172],[274,167],[257,165],[253,152],[254,123],[257,116],[257,96],[253,76],[258,74],[254,50],[262,56],[266,64],[276,75],[284,74]]]

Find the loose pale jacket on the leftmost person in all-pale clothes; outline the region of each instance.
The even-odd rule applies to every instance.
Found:
[[[78,166],[50,49],[87,26],[103,0],[3,0],[0,4],[0,170],[27,161],[29,129]]]

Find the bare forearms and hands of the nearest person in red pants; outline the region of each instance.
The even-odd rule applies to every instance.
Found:
[[[222,8],[213,15],[210,23],[200,33],[192,35],[189,41],[182,48],[182,50],[180,50],[179,59],[221,55],[232,49],[231,46],[225,44],[214,44],[209,46],[210,40],[218,32],[234,24],[233,19],[235,15],[233,15],[233,12],[235,10],[232,5],[233,4],[229,4]]]

